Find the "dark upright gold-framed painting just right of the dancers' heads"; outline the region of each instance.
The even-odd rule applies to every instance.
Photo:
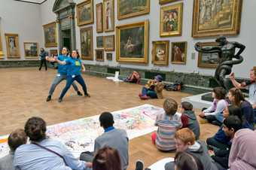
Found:
[[[93,26],[80,29],[81,59],[93,60]]]

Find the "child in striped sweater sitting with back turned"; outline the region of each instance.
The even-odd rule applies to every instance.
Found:
[[[175,150],[174,135],[182,126],[181,117],[176,114],[178,104],[169,98],[163,102],[163,109],[165,113],[157,115],[155,126],[158,129],[151,135],[152,142],[159,150]]]

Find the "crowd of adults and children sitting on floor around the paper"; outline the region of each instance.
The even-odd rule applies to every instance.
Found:
[[[251,71],[255,81],[256,68]],[[232,79],[233,74],[230,76]],[[155,79],[157,83],[161,82],[160,77]],[[201,123],[207,120],[220,126],[206,142],[199,140],[200,125],[193,105],[181,102],[178,111],[178,103],[174,99],[165,99],[164,113],[157,115],[155,126],[158,129],[151,138],[158,150],[177,151],[174,162],[164,165],[166,170],[256,169],[255,103],[251,103],[255,102],[255,95],[246,101],[239,90],[245,86],[235,80],[233,83],[236,87],[229,90],[228,99],[225,99],[222,87],[216,87],[212,92],[212,106],[200,113],[200,117],[205,119]],[[251,84],[247,86],[251,90]],[[147,88],[143,90],[147,94],[150,91]],[[96,138],[93,153],[84,150],[77,159],[60,141],[47,137],[46,122],[41,117],[31,117],[24,129],[16,129],[9,135],[11,151],[0,159],[0,170],[126,170],[129,165],[126,131],[114,128],[114,117],[109,112],[100,115],[99,123],[104,133]],[[143,169],[143,162],[137,161],[136,170]]]

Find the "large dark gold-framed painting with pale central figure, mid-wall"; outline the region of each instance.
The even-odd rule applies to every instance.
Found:
[[[148,63],[149,21],[116,27],[117,61]]]

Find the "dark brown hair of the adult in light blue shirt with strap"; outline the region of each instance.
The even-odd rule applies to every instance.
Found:
[[[25,132],[31,141],[42,141],[46,138],[46,123],[41,117],[31,117],[26,121]]]

